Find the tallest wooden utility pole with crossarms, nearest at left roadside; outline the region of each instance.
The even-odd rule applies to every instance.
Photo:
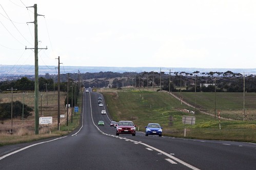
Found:
[[[37,5],[34,4],[32,7],[27,8],[34,8],[34,22],[27,22],[27,23],[34,23],[34,34],[35,34],[35,46],[34,48],[27,48],[27,49],[34,49],[35,53],[35,134],[37,135],[39,133],[39,114],[38,114],[38,49],[45,49],[46,48],[38,48],[38,38],[37,38],[37,16],[44,16],[44,15],[38,15],[37,14]]]

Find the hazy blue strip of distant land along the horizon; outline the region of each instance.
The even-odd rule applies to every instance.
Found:
[[[39,75],[45,76],[47,75],[57,75],[56,66],[39,66],[38,68]],[[182,68],[182,67],[105,67],[105,66],[61,66],[60,72],[61,74],[67,73],[77,73],[80,71],[81,74],[86,72],[164,72],[165,74],[175,75],[175,72],[185,72],[188,74],[192,74],[193,72],[199,72],[198,75],[204,76],[209,72],[226,72],[232,71],[235,74],[242,75],[256,75],[255,68]],[[0,81],[6,80],[17,80],[22,77],[33,78],[34,77],[34,65],[1,65],[0,64]]]

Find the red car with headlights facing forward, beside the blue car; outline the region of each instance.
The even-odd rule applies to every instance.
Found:
[[[116,127],[116,134],[132,134],[132,136],[135,136],[135,129],[136,125],[133,124],[131,121],[122,120],[119,122],[119,124]]]

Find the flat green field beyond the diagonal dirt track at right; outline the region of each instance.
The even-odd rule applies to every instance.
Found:
[[[173,92],[173,94],[180,96],[180,92]],[[216,96],[216,112],[220,111],[222,117],[235,120],[256,120],[256,93],[245,93],[245,97],[243,93],[230,92],[216,92],[216,94],[214,92],[196,92],[196,94],[182,92],[181,95],[185,102],[211,114],[215,114]],[[243,114],[244,109],[245,114]]]

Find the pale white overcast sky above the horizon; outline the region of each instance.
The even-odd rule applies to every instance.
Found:
[[[0,65],[256,68],[254,0],[1,0]]]

